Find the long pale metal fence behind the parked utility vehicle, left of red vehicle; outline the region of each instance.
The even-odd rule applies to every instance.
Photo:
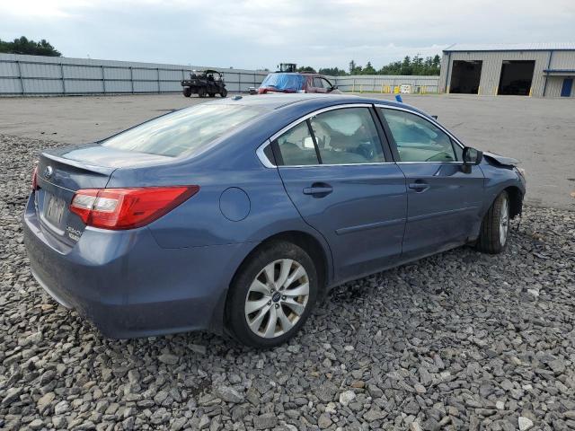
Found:
[[[206,66],[163,65],[86,58],[0,54],[1,95],[118,94],[181,92],[190,70]],[[267,72],[216,69],[228,92],[247,92],[259,86]]]

